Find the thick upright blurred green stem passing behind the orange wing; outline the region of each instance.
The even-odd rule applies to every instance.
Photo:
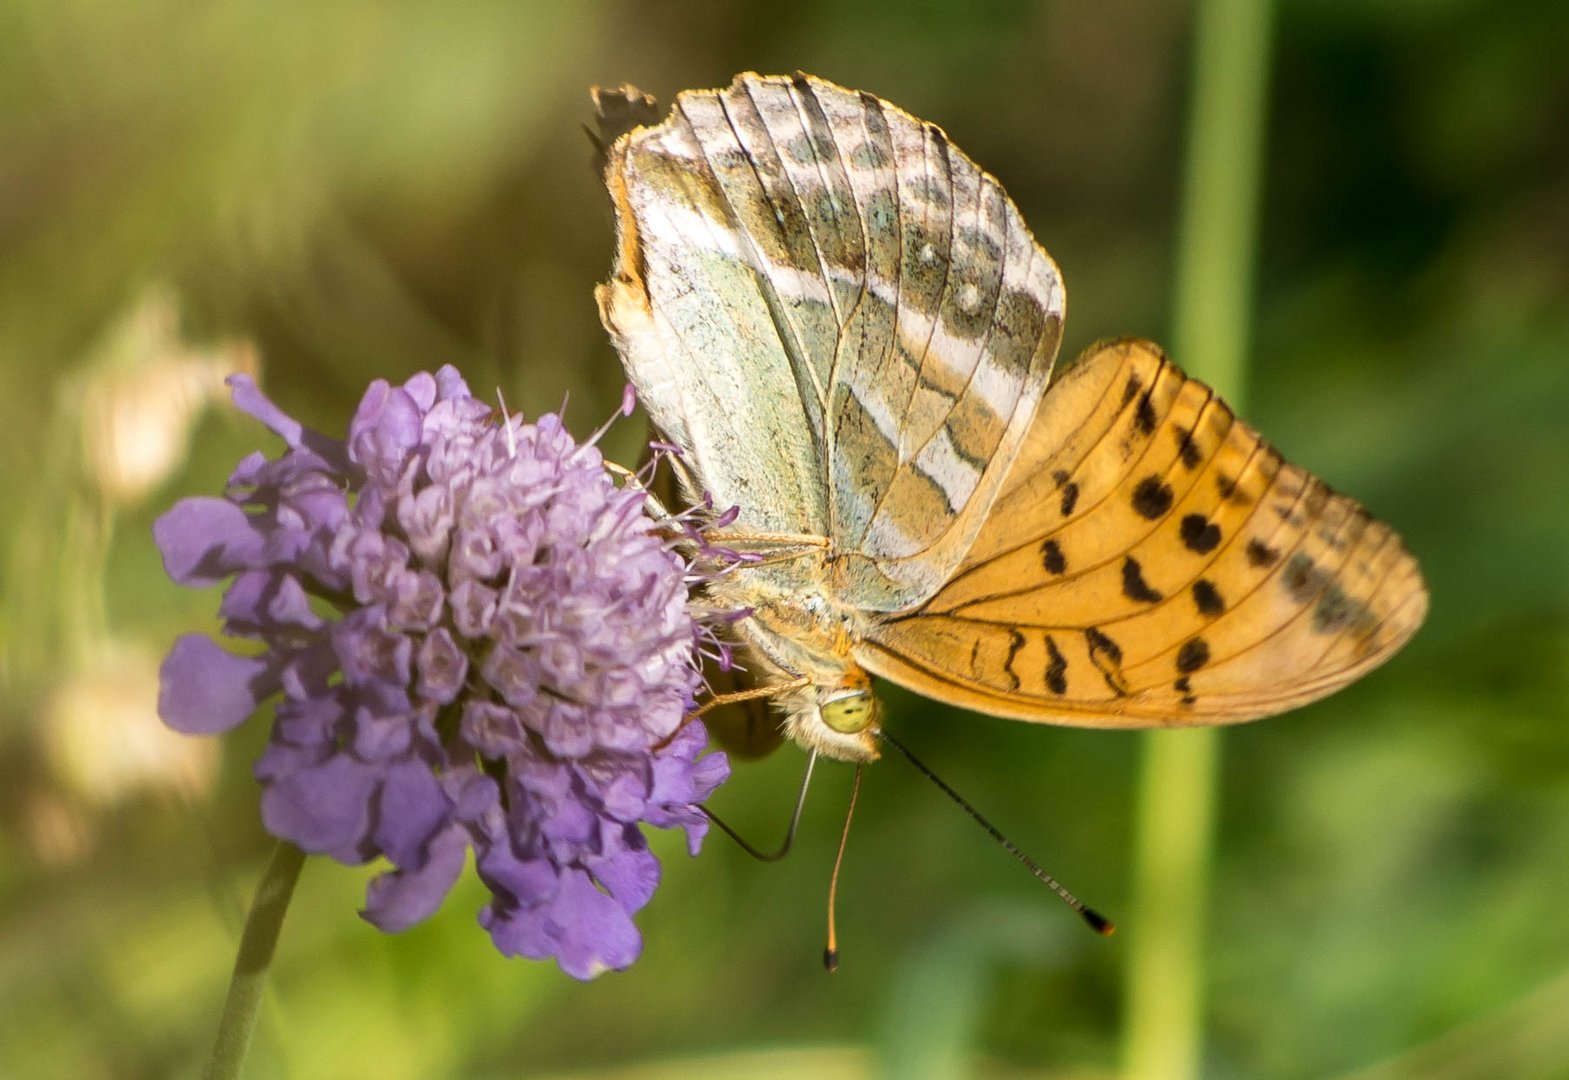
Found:
[[[1233,407],[1246,391],[1263,166],[1268,0],[1199,0],[1172,355]],[[1145,736],[1136,810],[1123,1075],[1186,1080],[1203,1052],[1214,730]]]

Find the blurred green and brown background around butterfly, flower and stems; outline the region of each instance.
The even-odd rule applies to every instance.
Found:
[[[1277,8],[1246,411],[1404,534],[1432,614],[1224,736],[1205,1075],[1569,1075],[1566,41],[1561,0]],[[370,378],[455,363],[529,414],[570,391],[590,432],[621,375],[587,88],[742,69],[941,124],[1062,265],[1065,356],[1169,338],[1192,44],[1167,0],[0,5],[0,1075],[188,1077],[209,1047],[264,732],[160,732],[158,651],[217,595],[149,526],[276,449],[223,372],[340,432]],[[496,954],[474,882],[384,937],[372,871],[314,860],[253,1075],[1114,1075],[1138,736],[888,697],[1117,937],[890,761],[822,973],[830,768],[783,863],[659,837],[643,959],[592,984]],[[799,769],[715,805],[767,841]]]

